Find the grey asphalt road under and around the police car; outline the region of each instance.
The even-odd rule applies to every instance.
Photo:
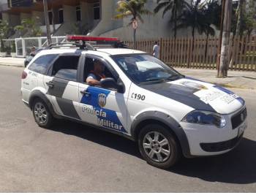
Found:
[[[39,128],[21,102],[21,72],[0,66],[1,192],[256,192],[256,91],[234,90],[249,120],[235,150],[162,170],[114,134],[69,121]]]

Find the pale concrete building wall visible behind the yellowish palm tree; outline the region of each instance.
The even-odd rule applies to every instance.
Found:
[[[112,2],[110,4],[109,2]],[[146,8],[152,13],[154,8],[157,6],[157,0],[148,0]],[[133,29],[131,26],[127,26],[130,22],[130,18],[125,18],[119,22],[116,20],[110,20],[116,14],[116,1],[108,0],[108,6],[102,5],[103,11],[101,23],[92,32],[95,36],[106,36],[106,37],[119,37],[120,39],[132,39]],[[148,39],[156,37],[172,37],[173,36],[173,26],[170,26],[170,12],[167,12],[162,18],[162,10],[156,15],[143,15],[144,23],[139,22],[137,38],[138,39]],[[118,24],[117,24],[118,23]],[[118,28],[119,27],[119,28]],[[178,31],[178,36],[187,36],[190,34],[188,30]]]

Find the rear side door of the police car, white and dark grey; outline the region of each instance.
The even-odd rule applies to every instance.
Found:
[[[47,96],[59,115],[80,120],[78,115],[78,64],[80,53],[60,55],[50,67],[44,85]]]

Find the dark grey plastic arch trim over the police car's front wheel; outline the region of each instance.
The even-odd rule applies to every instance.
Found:
[[[187,135],[185,134],[184,130],[175,119],[173,119],[170,115],[167,115],[163,112],[147,111],[138,115],[132,122],[132,126],[131,126],[131,135],[133,139],[137,141],[138,134],[140,133],[140,129],[142,129],[143,126],[146,126],[151,123],[157,123],[169,129],[170,132],[174,136],[176,136],[179,142],[179,145],[181,145],[181,150],[183,155],[187,158],[192,157],[190,153]]]

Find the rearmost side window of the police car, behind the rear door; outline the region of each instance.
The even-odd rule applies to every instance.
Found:
[[[57,54],[50,54],[37,58],[33,64],[29,66],[29,70],[39,74],[45,74],[51,62],[57,57]]]

